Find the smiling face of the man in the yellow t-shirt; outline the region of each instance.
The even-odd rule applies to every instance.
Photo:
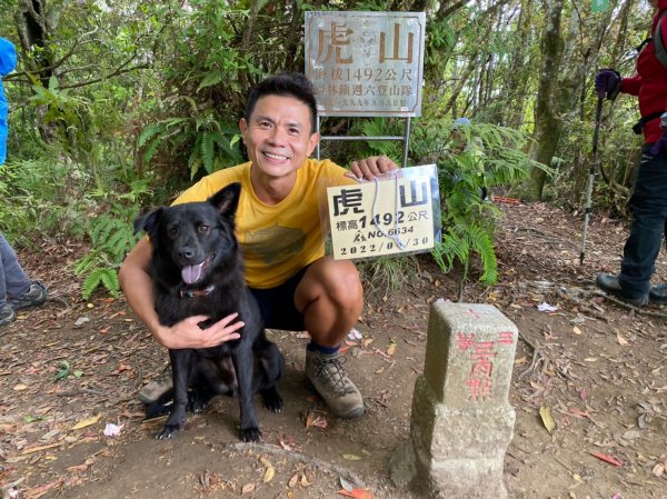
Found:
[[[319,140],[312,133],[310,110],[288,96],[261,97],[249,121],[239,122],[252,168],[271,179],[289,177],[301,167]]]

